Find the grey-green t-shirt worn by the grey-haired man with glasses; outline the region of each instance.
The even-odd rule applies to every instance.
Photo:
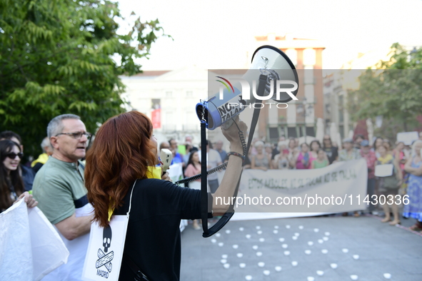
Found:
[[[50,156],[36,173],[32,189],[38,208],[54,225],[88,203],[80,163],[76,166]]]

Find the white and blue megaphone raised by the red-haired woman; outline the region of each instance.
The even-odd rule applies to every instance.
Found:
[[[293,99],[297,100],[296,68],[286,53],[273,46],[257,48],[252,56],[251,68],[241,78],[224,78],[221,75],[216,76],[215,80],[220,85],[218,93],[208,101],[196,104],[196,115],[206,123],[209,130],[223,125],[226,128],[231,126],[231,119],[245,108],[256,108],[256,103],[252,101],[271,99],[286,104]],[[265,83],[263,93],[257,93],[258,83]],[[258,106],[262,108],[265,104],[260,103]]]

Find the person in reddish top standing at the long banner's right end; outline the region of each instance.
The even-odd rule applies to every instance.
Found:
[[[368,212],[373,212],[376,208],[376,198],[375,195],[375,164],[376,164],[376,155],[371,150],[369,142],[366,140],[361,141],[361,157],[365,158],[366,166],[368,168],[368,181],[366,183],[366,194],[368,195],[368,200],[371,202],[368,206]]]

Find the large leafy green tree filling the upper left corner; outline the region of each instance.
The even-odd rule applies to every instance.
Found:
[[[124,111],[119,75],[141,72],[162,34],[159,21],[123,19],[107,0],[0,0],[0,130],[23,138],[37,155],[51,118],[81,116],[88,131]]]

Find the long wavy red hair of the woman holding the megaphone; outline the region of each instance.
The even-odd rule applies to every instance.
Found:
[[[94,220],[109,225],[109,207],[119,208],[137,178],[146,178],[156,164],[150,138],[152,123],[138,111],[114,116],[96,133],[86,153],[85,186],[94,206]]]

